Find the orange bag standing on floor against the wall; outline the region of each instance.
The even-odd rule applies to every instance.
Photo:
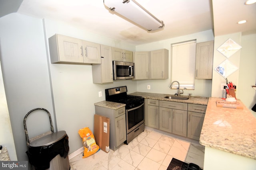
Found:
[[[84,145],[84,156],[86,158],[94,153],[96,153],[100,147],[96,144],[94,135],[89,127],[84,127],[78,131],[80,137],[83,139]]]

